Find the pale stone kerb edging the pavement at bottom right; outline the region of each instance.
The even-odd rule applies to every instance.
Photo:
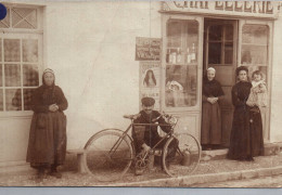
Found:
[[[282,166],[273,168],[259,168],[253,170],[241,170],[233,172],[220,172],[220,173],[208,173],[208,174],[196,174],[196,176],[187,176],[180,178],[167,178],[167,179],[157,179],[150,181],[132,182],[132,183],[116,183],[107,184],[100,186],[171,186],[171,187],[181,187],[189,186],[194,184],[203,183],[215,183],[215,182],[225,182],[231,180],[242,180],[242,179],[253,179],[258,177],[270,177],[282,174]]]

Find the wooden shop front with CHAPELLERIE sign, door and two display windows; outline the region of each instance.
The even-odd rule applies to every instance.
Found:
[[[275,2],[163,2],[162,109],[178,115],[181,131],[201,139],[202,83],[216,69],[225,98],[220,102],[222,146],[229,145],[235,68],[247,66],[249,78],[260,70],[268,104],[261,110],[264,139],[269,142],[272,34]]]

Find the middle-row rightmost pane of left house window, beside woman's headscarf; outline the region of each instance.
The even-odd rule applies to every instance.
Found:
[[[23,65],[24,87],[39,86],[39,75],[37,65]]]

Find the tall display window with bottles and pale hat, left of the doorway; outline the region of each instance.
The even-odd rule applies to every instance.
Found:
[[[196,105],[198,23],[169,20],[167,22],[167,53],[165,105],[191,107]]]

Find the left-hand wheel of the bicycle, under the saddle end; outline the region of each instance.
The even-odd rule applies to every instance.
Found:
[[[104,130],[89,139],[85,146],[86,168],[99,181],[115,181],[129,169],[133,148],[127,134]]]

